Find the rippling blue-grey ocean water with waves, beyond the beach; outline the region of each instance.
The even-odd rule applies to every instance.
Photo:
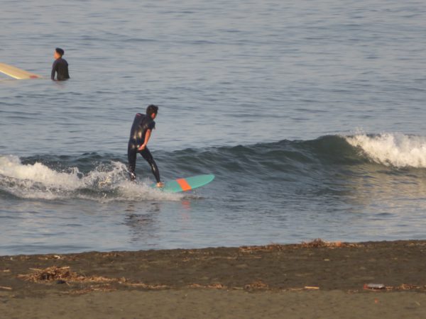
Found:
[[[0,254],[425,239],[425,1],[1,1]],[[53,50],[70,65],[50,81]],[[151,189],[133,117],[160,109]]]

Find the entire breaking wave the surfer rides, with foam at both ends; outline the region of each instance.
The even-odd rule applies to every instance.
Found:
[[[209,147],[155,152],[163,179],[213,173],[214,184],[279,186],[283,181],[318,185],[337,181],[332,174],[356,174],[426,167],[426,138],[384,133],[327,135],[315,140],[281,140],[256,145]],[[138,158],[136,173],[128,179],[125,155],[85,153],[75,156],[0,156],[0,192],[19,198],[84,198],[97,201],[180,200],[182,195],[152,189],[148,165]],[[303,188],[300,185],[300,188]]]

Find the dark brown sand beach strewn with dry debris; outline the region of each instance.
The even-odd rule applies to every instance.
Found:
[[[0,318],[379,317],[426,318],[426,241],[0,257]]]

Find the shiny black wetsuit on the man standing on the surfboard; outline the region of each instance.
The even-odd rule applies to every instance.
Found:
[[[158,172],[157,164],[155,164],[155,160],[153,159],[153,155],[148,150],[148,147],[139,151],[138,148],[143,145],[145,142],[145,135],[147,130],[152,130],[155,128],[154,120],[146,115],[137,113],[135,119],[133,121],[133,125],[131,125],[130,138],[129,138],[129,147],[127,148],[127,159],[129,160],[129,172],[130,179],[136,179],[135,168],[136,168],[136,154],[140,153],[146,162],[150,164],[151,171],[154,174],[157,183],[160,182],[160,172]]]

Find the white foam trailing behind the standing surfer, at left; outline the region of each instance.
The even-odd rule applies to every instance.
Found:
[[[111,162],[82,174],[77,167],[57,172],[40,162],[22,164],[19,157],[0,155],[0,189],[21,198],[84,198],[97,201],[146,201],[182,198],[128,179],[126,165]]]

